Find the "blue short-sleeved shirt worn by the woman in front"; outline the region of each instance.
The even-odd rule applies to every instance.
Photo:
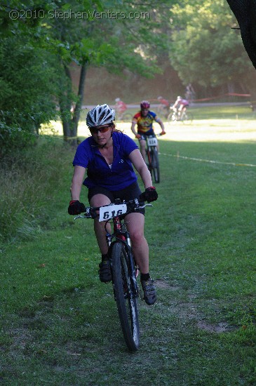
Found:
[[[128,135],[113,132],[114,158],[110,168],[105,158],[100,154],[97,143],[89,137],[76,149],[73,165],[87,169],[87,178],[83,181],[86,187],[105,187],[112,192],[124,189],[137,181],[133,164],[128,159],[136,143]]]

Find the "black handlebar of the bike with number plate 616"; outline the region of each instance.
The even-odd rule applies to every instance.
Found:
[[[138,209],[142,209],[144,208],[145,206],[153,206],[151,204],[144,204],[144,205],[140,205],[140,204],[144,204],[144,201],[139,201],[138,199],[133,199],[133,200],[130,200],[130,201],[121,201],[119,199],[116,199],[114,203],[111,203],[111,204],[108,204],[108,205],[102,205],[102,206],[88,206],[86,208],[86,210],[84,211],[84,215],[78,215],[74,218],[74,220],[76,220],[77,218],[97,218],[99,217],[99,215],[96,213],[97,211],[100,211],[100,208],[107,208],[108,206],[111,207],[111,206],[114,206],[114,205],[126,205],[127,206],[127,211],[126,213],[117,213],[116,215],[114,215],[113,217],[120,217],[121,215],[123,214],[128,214],[130,213],[131,211],[133,210],[138,210]]]

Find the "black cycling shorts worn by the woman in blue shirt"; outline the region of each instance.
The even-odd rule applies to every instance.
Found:
[[[140,199],[141,190],[137,182],[133,182],[132,185],[129,185],[125,189],[117,190],[116,192],[112,192],[105,187],[89,187],[88,188],[88,201],[95,196],[95,194],[104,194],[109,198],[111,202],[114,202],[115,199],[121,199],[121,201],[130,201],[133,199]],[[133,211],[134,213],[142,213],[144,215],[144,208],[138,209],[137,211]]]

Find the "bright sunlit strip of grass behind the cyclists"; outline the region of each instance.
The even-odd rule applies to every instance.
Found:
[[[191,142],[243,142],[256,140],[256,115],[247,106],[201,107],[191,108],[194,115],[192,124],[168,122],[163,118],[166,128],[164,140]],[[83,114],[85,118],[85,114]],[[116,128],[134,138],[129,122],[116,122]],[[154,124],[155,133],[161,128]],[[50,126],[44,126],[43,133],[48,135],[63,135],[60,121],[52,121]],[[90,135],[86,121],[79,122],[78,136],[83,140]]]

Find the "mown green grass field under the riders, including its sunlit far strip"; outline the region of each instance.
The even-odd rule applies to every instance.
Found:
[[[166,124],[159,140],[159,199],[146,213],[158,301],[139,301],[136,354],[98,279],[93,224],[67,215],[65,149],[41,232],[1,251],[2,385],[256,385],[256,120],[219,112]]]

